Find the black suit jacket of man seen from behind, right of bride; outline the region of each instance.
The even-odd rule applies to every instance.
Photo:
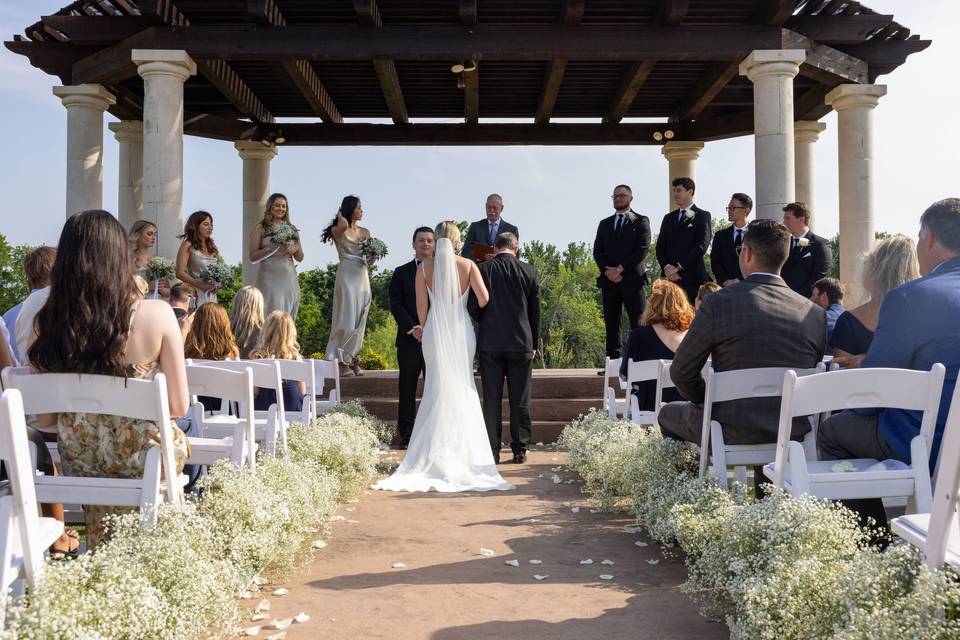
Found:
[[[537,269],[509,253],[477,265],[490,301],[483,309],[470,292],[467,308],[477,321],[477,351],[536,351],[540,344]]]

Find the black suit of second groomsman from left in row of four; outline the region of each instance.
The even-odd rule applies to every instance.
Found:
[[[660,236],[657,238],[657,262],[660,263],[660,275],[663,268],[672,264],[683,267],[680,280],[676,283],[686,291],[690,303],[697,297],[697,289],[710,280],[703,256],[710,246],[710,212],[697,205],[691,205],[692,219],[680,220],[680,209],[674,209],[663,216],[660,223]]]

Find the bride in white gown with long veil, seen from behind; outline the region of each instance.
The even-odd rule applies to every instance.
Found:
[[[413,436],[392,476],[373,485],[386,491],[506,491],[497,472],[480,398],[473,380],[477,338],[467,315],[473,289],[481,307],[489,300],[480,271],[455,255],[456,223],[436,228],[436,253],[417,270],[417,315],[423,327],[426,375]]]

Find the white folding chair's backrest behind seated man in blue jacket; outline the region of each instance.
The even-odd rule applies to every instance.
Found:
[[[800,378],[794,371],[783,374],[783,400],[777,434],[775,486],[783,486],[784,465],[794,416],[844,409],[906,409],[922,411],[920,434],[933,442],[943,378],[940,363],[930,371],[911,369],[844,369]]]

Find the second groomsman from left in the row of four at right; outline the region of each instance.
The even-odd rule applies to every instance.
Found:
[[[665,215],[660,224],[657,262],[661,275],[679,285],[693,304],[697,289],[710,280],[703,261],[710,246],[710,212],[693,204],[693,180],[677,178],[671,184],[677,208]]]

